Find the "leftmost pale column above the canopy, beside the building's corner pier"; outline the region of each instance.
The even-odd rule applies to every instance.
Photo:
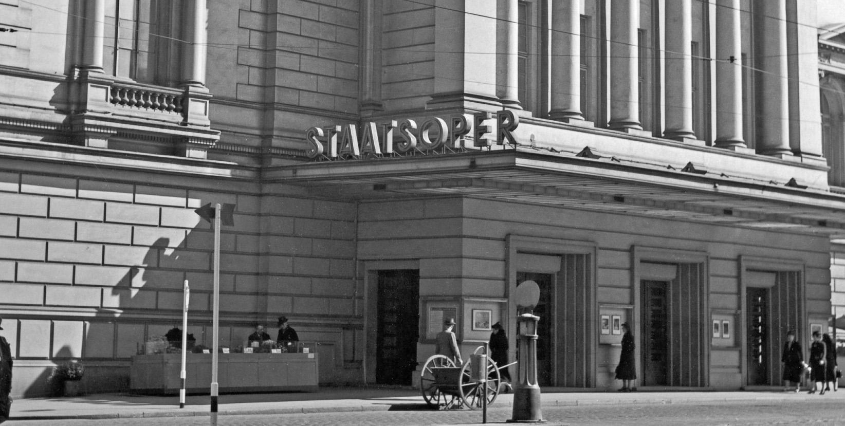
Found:
[[[498,0],[499,25],[497,28],[496,95],[502,106],[522,109],[520,106],[519,79],[519,1]]]

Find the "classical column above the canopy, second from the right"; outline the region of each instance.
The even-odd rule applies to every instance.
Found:
[[[742,136],[740,0],[717,0],[716,146],[745,147]]]

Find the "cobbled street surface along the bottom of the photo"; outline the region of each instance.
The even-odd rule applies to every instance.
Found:
[[[795,402],[725,402],[706,404],[644,404],[611,407],[543,407],[543,417],[550,422],[570,425],[845,425],[842,400]],[[488,423],[503,423],[510,418],[508,407],[491,408]],[[221,426],[427,426],[456,423],[481,423],[481,412],[467,410],[402,410],[387,412],[320,412],[313,414],[225,415]],[[122,418],[105,420],[12,421],[3,426],[199,426],[210,424],[208,417]]]

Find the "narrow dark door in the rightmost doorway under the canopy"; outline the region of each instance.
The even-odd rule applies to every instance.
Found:
[[[769,289],[748,287],[745,289],[745,321],[748,324],[748,384],[771,385],[769,383]]]

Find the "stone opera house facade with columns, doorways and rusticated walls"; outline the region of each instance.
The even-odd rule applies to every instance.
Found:
[[[843,314],[817,27],[797,0],[5,1],[13,394],[67,359],[127,389],[185,280],[210,346],[210,202],[221,344],[285,314],[321,383],[412,383],[447,316],[465,352],[515,336],[535,281],[543,386],[613,385],[626,321],[640,387],[778,385],[785,332]]]

